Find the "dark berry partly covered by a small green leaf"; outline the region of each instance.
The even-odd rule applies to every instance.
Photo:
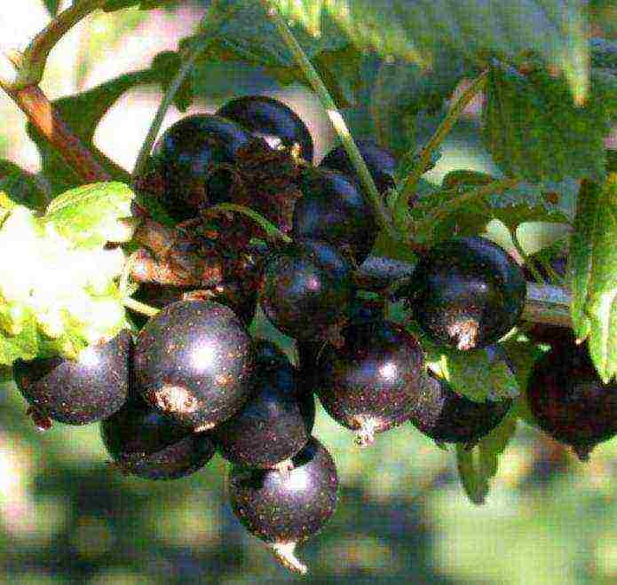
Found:
[[[510,399],[471,401],[456,394],[443,378],[427,374],[410,422],[435,441],[475,445],[502,422],[511,405]]]

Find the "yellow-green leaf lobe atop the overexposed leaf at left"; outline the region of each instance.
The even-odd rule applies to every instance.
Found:
[[[42,221],[51,222],[83,248],[104,246],[115,238],[118,220],[131,217],[134,194],[124,183],[93,183],[54,199]]]

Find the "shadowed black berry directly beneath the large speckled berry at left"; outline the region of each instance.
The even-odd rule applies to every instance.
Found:
[[[141,399],[127,402],[100,424],[107,453],[126,474],[146,480],[177,480],[214,456],[206,433],[174,423]]]

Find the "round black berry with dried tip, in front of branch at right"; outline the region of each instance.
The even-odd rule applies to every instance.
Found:
[[[457,238],[431,248],[395,297],[407,300],[433,341],[463,351],[491,345],[518,324],[526,282],[502,247]]]

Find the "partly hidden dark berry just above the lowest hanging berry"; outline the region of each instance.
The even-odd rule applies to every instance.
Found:
[[[310,437],[299,399],[296,369],[272,343],[258,341],[249,400],[214,431],[221,455],[233,464],[287,472]]]

